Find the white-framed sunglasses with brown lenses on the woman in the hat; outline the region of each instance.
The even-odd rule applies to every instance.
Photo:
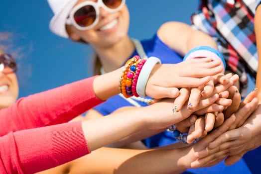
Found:
[[[73,24],[79,30],[88,30],[94,27],[99,21],[100,7],[109,12],[119,11],[126,0],[98,0],[84,1],[71,10],[66,24]]]

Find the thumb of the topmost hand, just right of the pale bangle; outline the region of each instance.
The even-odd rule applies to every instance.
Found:
[[[152,90],[146,91],[146,95],[153,98],[175,98],[179,95],[179,90],[176,87],[159,87],[154,86]]]

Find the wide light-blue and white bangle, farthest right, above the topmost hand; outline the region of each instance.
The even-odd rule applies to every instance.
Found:
[[[212,60],[217,60],[221,59],[222,64],[223,64],[223,73],[225,72],[226,69],[226,62],[222,54],[209,46],[199,46],[191,49],[183,58],[183,61],[185,60],[190,60],[193,58],[200,58],[200,57],[210,57]]]

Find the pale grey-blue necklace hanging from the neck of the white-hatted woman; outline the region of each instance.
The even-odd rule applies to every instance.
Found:
[[[137,40],[137,39],[133,39],[133,38],[131,38],[131,41],[133,42],[139,57],[141,59],[147,59],[148,57],[147,57],[147,55],[146,55],[146,53],[145,53],[145,51],[143,49],[143,46],[141,45],[140,41]],[[103,67],[101,67],[100,71],[101,71],[101,74],[106,74],[106,72],[104,71]],[[134,105],[136,107],[140,107],[140,104],[137,101],[140,101],[142,103],[148,103],[151,100],[149,98],[144,98],[144,97],[141,97],[141,96],[138,96],[138,97],[131,96],[130,98],[125,98],[123,96],[123,94],[120,93],[119,95],[122,98],[126,99],[130,104],[132,104],[132,105]]]

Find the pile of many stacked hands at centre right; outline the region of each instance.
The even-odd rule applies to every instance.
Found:
[[[206,62],[208,62],[208,66],[215,67],[214,69],[217,71],[210,74],[203,70],[203,67],[207,68]],[[158,70],[155,67],[156,71],[160,71],[160,66],[164,66],[165,72],[162,74],[169,77],[170,81],[175,79],[175,82],[169,82],[166,87],[178,87],[179,92],[174,92],[177,89],[173,88],[172,90],[162,90],[162,95],[157,93],[156,96],[153,96],[153,93],[149,92],[153,90],[146,89],[147,95],[157,98],[152,100],[152,105],[161,104],[162,110],[167,107],[169,109],[169,104],[172,105],[175,117],[173,122],[175,122],[176,129],[181,133],[187,133],[187,143],[190,146],[181,148],[181,153],[188,156],[184,155],[184,158],[180,159],[181,164],[187,164],[185,168],[209,167],[225,158],[227,165],[233,165],[246,152],[257,148],[256,145],[248,145],[247,148],[247,143],[253,137],[246,127],[247,119],[258,108],[257,89],[252,90],[241,101],[239,89],[234,85],[239,80],[238,75],[220,73],[218,71],[220,67],[217,64],[218,61],[209,62],[208,58],[185,61],[177,64],[175,68],[177,77],[174,74],[167,74],[168,64],[156,65],[158,66]],[[173,69],[169,72],[173,73]],[[202,73],[210,76],[196,79]],[[150,76],[150,79],[153,79],[153,72]],[[147,87],[153,87],[153,85],[149,84]],[[157,86],[155,85],[155,87]],[[171,99],[159,99],[161,96],[169,96]],[[242,129],[236,131],[237,128]],[[153,129],[156,128],[153,127]],[[193,144],[195,140],[199,141]],[[191,154],[190,158],[188,158],[189,154]]]

